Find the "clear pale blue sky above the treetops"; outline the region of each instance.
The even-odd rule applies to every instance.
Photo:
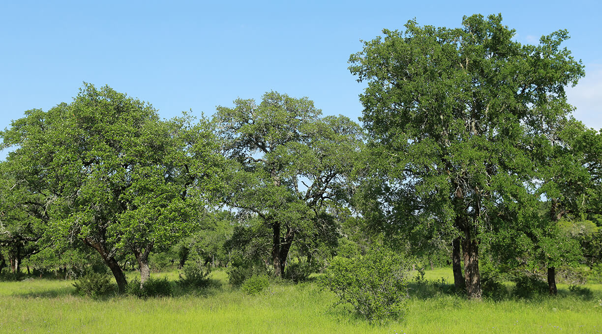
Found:
[[[458,27],[501,13],[521,43],[568,29],[586,65],[569,90],[576,117],[600,129],[602,5],[598,1],[2,1],[0,129],[33,108],[70,102],[83,81],[151,102],[162,117],[212,115],[265,91],[307,96],[324,114],[361,115],[351,53],[383,28]],[[1,154],[0,157],[4,157]]]

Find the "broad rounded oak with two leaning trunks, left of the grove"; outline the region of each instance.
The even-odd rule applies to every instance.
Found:
[[[190,230],[222,180],[209,123],[160,120],[110,87],[85,84],[71,103],[26,112],[2,138],[15,148],[7,159],[14,186],[36,194],[49,237],[95,249],[120,291],[117,252],[133,252],[147,279],[149,253]]]

